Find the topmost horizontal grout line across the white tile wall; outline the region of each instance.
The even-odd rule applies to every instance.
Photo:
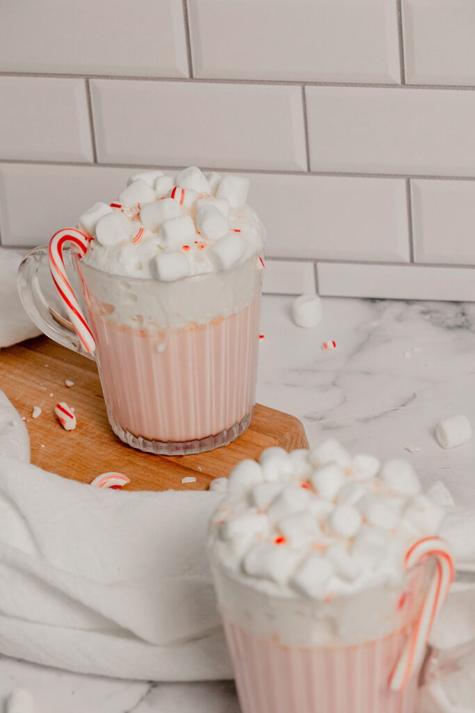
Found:
[[[184,0],[183,0],[184,1]],[[61,72],[7,72],[0,71],[0,77],[31,77],[50,79],[107,79],[113,81],[148,81],[148,82],[180,82],[195,84],[249,84],[258,86],[315,86],[315,87],[350,87],[350,88],[371,88],[371,89],[436,89],[454,91],[475,91],[475,84],[398,84],[384,82],[361,82],[361,81],[314,81],[306,79],[223,79],[220,77],[166,77],[166,76],[140,76],[136,74],[93,74],[93,73],[61,73]]]

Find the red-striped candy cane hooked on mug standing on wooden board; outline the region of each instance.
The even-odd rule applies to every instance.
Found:
[[[72,242],[73,245],[78,248],[79,257],[83,257],[88,249],[90,237],[75,227],[58,230],[49,242],[48,262],[53,282],[56,284],[56,289],[58,289],[63,299],[66,312],[68,312],[68,317],[73,323],[75,332],[83,344],[85,351],[91,354],[95,351],[95,340],[88,323],[85,321],[83,312],[81,312],[78,300],[75,297],[68,275],[66,274],[66,267],[64,267],[63,260],[63,245],[65,242]]]

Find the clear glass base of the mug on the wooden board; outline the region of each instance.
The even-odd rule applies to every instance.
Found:
[[[109,422],[116,436],[121,441],[127,443],[132,448],[137,448],[145,453],[155,453],[157,456],[191,456],[193,453],[204,453],[204,451],[213,451],[214,448],[227,446],[228,443],[244,434],[244,431],[249,428],[254,416],[254,407],[249,414],[244,416],[244,419],[239,423],[230,426],[229,429],[220,431],[219,434],[206,436],[206,438],[197,438],[194,441],[156,441],[134,434],[123,429],[120,424],[110,417]]]

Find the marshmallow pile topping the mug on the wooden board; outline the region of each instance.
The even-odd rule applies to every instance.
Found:
[[[174,177],[136,173],[118,200],[95,203],[80,216],[79,230],[93,238],[85,262],[164,282],[229,270],[263,247],[248,191],[247,178],[205,176],[196,166]]]

